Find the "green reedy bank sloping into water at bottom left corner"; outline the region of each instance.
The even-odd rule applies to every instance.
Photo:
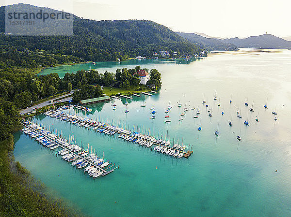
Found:
[[[14,161],[14,138],[0,141],[0,217],[77,217],[61,199],[45,195],[46,187]]]

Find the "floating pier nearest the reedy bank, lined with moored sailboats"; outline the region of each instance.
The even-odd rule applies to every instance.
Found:
[[[104,167],[104,169],[103,169],[101,165],[94,164],[94,163],[93,163],[92,161],[90,161],[89,159],[86,159],[86,156],[82,157],[81,155],[75,153],[75,152],[79,152],[80,150],[78,150],[78,151],[73,151],[73,150],[71,150],[70,148],[68,148],[69,145],[64,146],[64,145],[60,144],[59,142],[56,141],[56,140],[57,140],[56,138],[50,138],[49,136],[47,136],[46,134],[42,133],[41,131],[38,131],[38,130],[36,130],[35,128],[31,127],[31,125],[30,125],[31,123],[30,123],[29,121],[24,122],[24,123],[21,123],[21,124],[22,124],[25,128],[27,128],[27,129],[33,131],[34,133],[38,134],[37,137],[35,137],[35,138],[32,137],[32,139],[36,139],[36,138],[38,138],[38,137],[43,137],[43,138],[45,138],[46,140],[53,142],[55,145],[58,145],[58,147],[61,147],[61,148],[65,149],[68,153],[72,154],[73,156],[78,157],[78,158],[75,159],[74,161],[82,159],[82,161],[88,163],[86,166],[93,166],[93,167],[96,167],[97,169],[99,169],[99,171],[102,171],[102,172],[103,172],[103,173],[101,174],[102,176],[107,175],[107,174],[113,172],[115,169],[119,168],[119,167],[117,166],[117,167],[115,167],[114,169],[112,169],[112,170],[110,170],[110,171],[106,171],[106,167],[107,167],[107,166]],[[34,124],[34,125],[35,125],[35,126],[38,126],[38,125],[36,125],[36,124]],[[38,126],[38,127],[40,127],[40,126]],[[42,128],[40,127],[39,130],[44,130],[44,129],[42,129]],[[48,130],[47,130],[47,131],[48,131]],[[24,132],[25,132],[25,131],[24,131]],[[60,137],[57,136],[57,138],[59,139]],[[72,156],[72,157],[73,157],[73,156]],[[97,157],[97,156],[96,156],[96,157]],[[103,159],[103,160],[104,160],[104,159]],[[72,161],[72,162],[73,162],[73,161]],[[105,162],[104,162],[104,163],[105,163]],[[115,164],[114,164],[114,165],[115,165]],[[114,165],[113,165],[113,166],[114,166]],[[86,166],[84,166],[84,167],[86,167]],[[111,167],[112,167],[112,166],[108,167],[107,169],[110,169]],[[82,167],[82,168],[80,168],[80,169],[83,170],[84,168]]]

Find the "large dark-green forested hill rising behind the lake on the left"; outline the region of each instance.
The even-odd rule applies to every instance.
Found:
[[[32,7],[32,5],[22,3],[18,6]],[[5,8],[0,7],[0,32],[4,32],[4,12]],[[160,50],[168,51],[171,56],[176,51],[177,56],[199,54],[201,51],[193,43],[167,27],[148,20],[95,21],[74,15],[73,32],[72,36],[9,36],[1,34],[0,68],[11,65],[11,62],[17,66],[30,67],[35,65],[28,58],[28,53],[37,55],[38,53],[35,52],[40,52],[43,56],[50,55],[50,58],[46,58],[47,61],[42,57],[37,57],[37,64],[48,66],[66,61],[76,62],[78,59],[116,61],[117,58],[125,60],[135,58],[138,55],[151,57],[153,53]],[[53,55],[58,56],[57,60],[50,60],[54,58]],[[64,55],[66,56],[64,57]],[[7,58],[10,58],[11,61]],[[26,62],[26,65],[23,62]]]

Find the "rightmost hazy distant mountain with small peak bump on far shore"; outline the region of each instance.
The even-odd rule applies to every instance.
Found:
[[[237,47],[245,48],[274,48],[274,49],[288,49],[291,48],[291,42],[271,34],[263,34],[258,36],[251,36],[245,39],[230,38],[220,40],[224,43],[233,43]]]

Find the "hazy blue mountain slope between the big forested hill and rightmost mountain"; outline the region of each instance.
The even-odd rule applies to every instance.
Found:
[[[218,39],[211,39],[197,35],[195,33],[185,33],[185,32],[176,32],[178,35],[187,39],[189,42],[194,43],[200,48],[204,48],[207,51],[229,51],[229,50],[238,50],[237,46],[232,43],[221,42]]]

